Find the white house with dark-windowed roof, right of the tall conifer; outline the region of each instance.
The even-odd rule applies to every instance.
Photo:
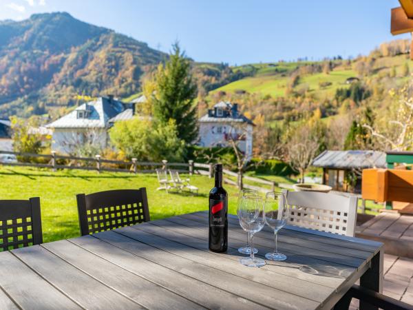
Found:
[[[238,112],[237,103],[221,101],[199,119],[198,145],[204,147],[229,146],[229,138],[241,136],[238,147],[248,161],[253,154],[254,123]],[[231,136],[230,136],[231,135]]]

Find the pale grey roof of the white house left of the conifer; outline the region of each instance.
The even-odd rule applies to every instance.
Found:
[[[47,124],[47,128],[104,128],[109,120],[125,110],[121,101],[100,97],[95,101],[83,103],[75,110]],[[87,118],[77,118],[78,111],[88,111]]]

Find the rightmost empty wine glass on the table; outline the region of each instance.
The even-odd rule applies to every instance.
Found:
[[[264,214],[266,224],[274,230],[275,234],[275,251],[265,254],[268,260],[286,260],[287,256],[278,252],[277,233],[287,223],[288,203],[286,195],[280,192],[270,192],[265,196]]]

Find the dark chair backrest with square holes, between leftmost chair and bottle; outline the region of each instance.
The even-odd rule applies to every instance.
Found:
[[[148,222],[145,187],[76,195],[82,236]]]

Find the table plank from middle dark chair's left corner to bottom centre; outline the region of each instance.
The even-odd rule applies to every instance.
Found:
[[[259,304],[130,253],[130,251],[134,251],[135,245],[139,242],[131,242],[130,238],[116,234],[114,231],[105,231],[94,236],[98,238],[83,236],[70,239],[70,241],[109,262],[209,309],[231,309],[234,307],[237,309],[264,309]],[[116,247],[113,247],[112,244]],[[150,248],[146,250],[149,255],[153,253]]]

